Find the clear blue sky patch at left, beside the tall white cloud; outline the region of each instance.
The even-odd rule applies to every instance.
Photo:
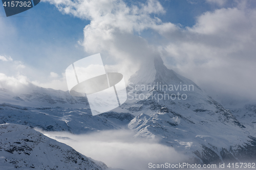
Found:
[[[14,30],[5,30],[8,40],[0,41],[1,55],[11,56],[42,72],[62,71],[58,70],[58,64],[65,64],[60,60],[62,57],[70,59],[67,62],[83,57],[82,48],[75,45],[83,36],[84,26],[90,21],[62,15],[49,3],[40,3],[10,17],[5,17],[2,8],[1,16],[7,27]]]

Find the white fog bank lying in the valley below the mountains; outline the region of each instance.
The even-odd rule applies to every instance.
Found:
[[[113,168],[143,170],[148,169],[148,163],[187,161],[187,156],[176,152],[171,147],[159,144],[156,139],[134,138],[135,134],[131,130],[100,131],[81,135],[65,132],[43,131],[42,133]]]

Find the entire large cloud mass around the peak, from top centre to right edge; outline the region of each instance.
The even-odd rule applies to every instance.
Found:
[[[127,78],[143,60],[161,55],[168,68],[192,79],[210,95],[220,94],[219,100],[227,94],[255,99],[256,82],[251,76],[256,74],[256,10],[246,8],[246,2],[205,12],[185,29],[156,17],[165,13],[156,0],[131,6],[117,0],[48,2],[63,14],[91,20],[80,44],[88,53],[102,53],[117,62],[106,65],[107,70]],[[223,6],[226,1],[207,2]],[[151,41],[140,36],[148,30],[158,36]]]

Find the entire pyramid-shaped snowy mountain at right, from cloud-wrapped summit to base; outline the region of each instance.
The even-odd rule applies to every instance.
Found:
[[[256,158],[255,129],[244,125],[247,120],[240,122],[160,57],[143,64],[127,92],[121,107],[136,115],[129,124],[136,137],[157,138],[199,163]]]

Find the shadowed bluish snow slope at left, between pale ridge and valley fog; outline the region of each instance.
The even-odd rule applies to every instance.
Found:
[[[99,130],[121,129],[134,116],[130,113],[108,112],[92,116],[90,109],[62,107],[22,107],[0,104],[0,123],[37,127],[46,131],[87,133]]]

